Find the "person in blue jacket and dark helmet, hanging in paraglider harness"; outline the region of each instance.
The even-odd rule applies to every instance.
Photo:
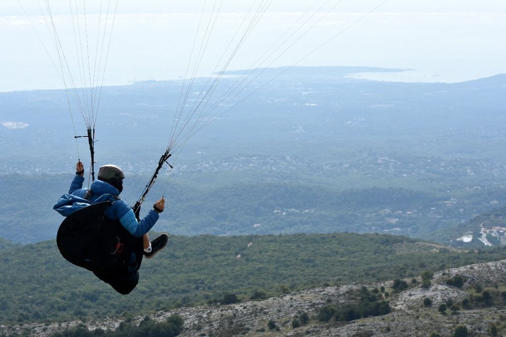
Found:
[[[165,208],[165,200],[163,198],[158,200],[153,205],[153,209],[142,220],[139,220],[138,212],[135,214],[132,207],[118,197],[123,189],[124,179],[124,172],[120,167],[116,165],[102,166],[99,169],[98,180],[92,182],[91,188],[82,188],[82,183],[85,180],[84,173],[83,164],[78,162],[68,194],[60,198],[54,209],[64,216],[69,216],[76,210],[90,204],[111,202],[111,206],[105,209],[103,213],[105,217],[103,218],[106,222],[114,223],[120,228],[120,231],[124,232],[123,236],[128,237],[123,245],[119,243],[120,234],[112,234],[112,236],[117,236],[118,240],[116,251],[124,249],[126,258],[121,266],[114,266],[112,272],[111,268],[109,270],[88,269],[92,270],[98,278],[109,283],[118,293],[129,294],[139,282],[138,270],[142,257],[152,258],[167,244],[166,233],[159,235],[151,242],[148,237],[148,231],[158,220],[159,213],[163,212]],[[109,228],[113,227],[111,224],[107,225]]]

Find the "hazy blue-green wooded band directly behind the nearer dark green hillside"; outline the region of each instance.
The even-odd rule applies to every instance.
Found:
[[[55,238],[63,217],[52,207],[68,191],[72,177],[72,173],[0,175],[0,185],[12,190],[0,194],[0,236],[23,244]],[[154,230],[178,235],[388,232],[448,245],[466,231],[463,223],[494,209],[491,201],[506,203],[506,193],[495,186],[450,198],[428,188],[341,188],[293,180],[236,179],[207,174],[171,180],[164,190],[160,178],[141,215],[154,198],[165,195],[166,212]],[[148,180],[128,175],[121,198],[133,205]],[[20,202],[27,195],[29,206]]]

